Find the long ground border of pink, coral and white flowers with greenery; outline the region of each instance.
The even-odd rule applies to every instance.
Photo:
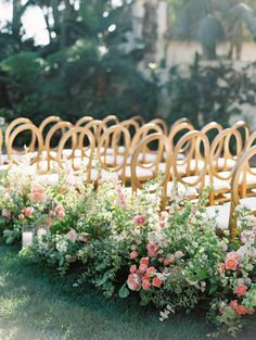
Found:
[[[176,311],[207,311],[220,330],[234,335],[256,308],[256,218],[236,211],[238,238],[217,236],[206,215],[207,191],[197,202],[174,196],[163,209],[150,185],[137,196],[119,182],[97,190],[60,176],[54,186],[10,172],[0,199],[3,234],[38,227],[22,256],[76,270],[74,286],[88,282],[105,295],[138,295],[161,310],[163,322]],[[16,175],[15,175],[16,176]],[[9,231],[8,231],[9,230]]]

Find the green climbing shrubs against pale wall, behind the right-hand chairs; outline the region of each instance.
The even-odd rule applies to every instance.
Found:
[[[170,122],[187,116],[195,126],[216,121],[228,126],[232,114],[240,114],[240,104],[255,105],[256,84],[249,67],[236,72],[232,63],[204,65],[195,58],[185,71],[174,66],[169,72],[167,89],[170,102]]]

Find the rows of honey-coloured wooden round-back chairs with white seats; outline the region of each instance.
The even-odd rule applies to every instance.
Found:
[[[55,123],[54,118],[59,117],[49,117],[39,128],[31,123],[26,124],[27,121],[23,121],[26,118],[11,123],[5,134],[11,161],[18,163],[18,156],[13,149],[14,140],[24,130],[30,130],[31,142],[27,151],[34,155],[31,163],[37,164],[39,173],[49,173],[55,163],[63,166],[66,164],[63,162],[65,159],[74,171],[86,168],[87,181],[99,179],[102,173],[107,176],[111,172],[117,174],[124,184],[131,182],[132,189],[136,190],[145,180],[163,172],[168,184],[175,177],[182,189],[184,186],[188,187],[187,197],[191,199],[195,199],[203,187],[212,185],[210,204],[230,199],[231,169],[242,150],[248,149],[256,139],[255,133],[249,136],[248,127],[243,122],[229,129],[222,129],[219,124],[213,122],[201,131],[196,131],[192,124],[183,118],[174,124],[169,135],[166,136],[159,126],[161,119],[139,127],[139,123],[133,118],[107,128],[107,123],[117,122],[115,116],[106,117],[104,123],[82,117],[77,122],[77,126],[68,122]],[[25,124],[22,124],[24,122]],[[53,122],[55,124],[43,140],[43,129]],[[133,137],[129,131],[131,124],[137,128]],[[102,131],[99,133],[99,129]],[[207,133],[214,129],[218,135],[209,143]],[[240,129],[244,129],[244,139]],[[57,148],[52,148],[51,140],[57,130],[62,130],[63,137]],[[183,130],[188,133],[182,137],[180,133]],[[154,138],[146,139],[146,136]],[[180,138],[174,142],[177,136]],[[156,142],[157,139],[161,144],[152,150],[149,143]],[[234,149],[232,152],[231,147]],[[100,175],[95,171],[95,153],[99,167],[102,169]],[[255,188],[253,175],[249,174],[252,189]],[[167,189],[168,192],[171,191],[170,185]],[[244,192],[242,194],[245,196]]]

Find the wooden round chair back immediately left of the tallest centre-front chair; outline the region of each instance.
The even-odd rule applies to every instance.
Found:
[[[125,184],[129,149],[130,134],[128,129],[120,124],[108,127],[98,143],[97,155],[100,168],[117,174]],[[107,152],[108,150],[112,150],[111,154]]]

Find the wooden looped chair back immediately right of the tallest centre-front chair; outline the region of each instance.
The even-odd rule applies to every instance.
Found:
[[[190,148],[187,148],[188,144]],[[201,150],[200,154],[202,158],[200,159],[197,159],[197,149]],[[204,189],[205,176],[208,173],[208,164],[209,141],[205,134],[193,130],[182,136],[175,146],[172,154],[171,168],[175,179],[184,186],[197,189],[201,193]],[[194,175],[192,177],[184,176],[190,174],[192,165]]]

